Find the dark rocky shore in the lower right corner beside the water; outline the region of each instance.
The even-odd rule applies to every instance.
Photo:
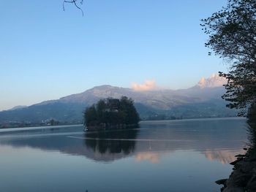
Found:
[[[217,180],[216,183],[224,185],[222,192],[256,192],[256,152],[249,148],[245,155],[236,155],[233,172],[228,179]]]

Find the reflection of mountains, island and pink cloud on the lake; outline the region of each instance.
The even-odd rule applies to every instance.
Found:
[[[140,128],[121,129],[102,132],[83,133],[80,128],[55,134],[39,134],[27,137],[6,137],[0,135],[1,145],[12,147],[32,147],[46,151],[59,151],[69,155],[83,155],[94,161],[111,162],[134,156],[135,161],[158,163],[163,155],[177,150],[195,150],[210,160],[222,164],[233,161],[233,156],[243,153],[246,131],[240,121],[233,120],[230,128],[216,121],[205,124],[176,122],[175,126],[155,123],[143,123]],[[186,122],[185,122],[186,123]],[[82,127],[81,127],[82,128]],[[54,131],[54,130],[53,130]],[[25,134],[26,135],[26,134]],[[228,139],[227,139],[228,138]]]

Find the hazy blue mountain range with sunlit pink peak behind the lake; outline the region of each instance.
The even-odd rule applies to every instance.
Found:
[[[231,117],[236,111],[225,107],[221,96],[225,93],[225,79],[211,75],[202,78],[192,88],[138,91],[101,85],[83,93],[72,94],[57,100],[42,101],[29,107],[14,107],[0,112],[0,123],[42,123],[53,119],[60,123],[82,123],[83,111],[99,99],[127,96],[135,101],[142,120],[180,118]]]

